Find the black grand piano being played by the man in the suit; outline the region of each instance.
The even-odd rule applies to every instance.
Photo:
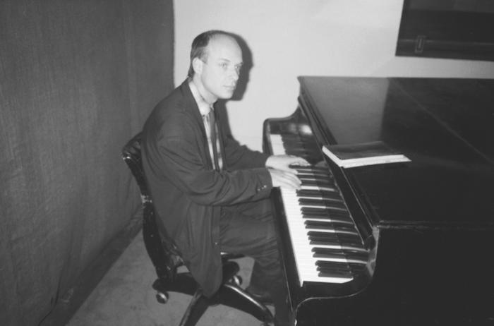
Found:
[[[305,157],[272,200],[292,325],[494,325],[494,80],[301,77],[263,150]],[[411,162],[342,169],[323,145]]]

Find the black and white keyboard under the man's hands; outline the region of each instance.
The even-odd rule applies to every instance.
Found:
[[[270,134],[270,142],[273,155],[303,152],[293,148],[287,152],[282,135]],[[365,269],[368,253],[330,169],[295,169],[302,181],[301,189],[280,188],[280,192],[300,283],[350,282]]]

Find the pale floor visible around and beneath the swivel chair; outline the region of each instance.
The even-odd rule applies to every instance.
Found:
[[[253,260],[241,258],[239,265],[245,287]],[[179,325],[191,296],[171,292],[168,303],[158,303],[151,287],[155,279],[154,267],[139,233],[67,325]],[[250,326],[260,323],[251,315],[220,305],[208,308],[197,325]]]

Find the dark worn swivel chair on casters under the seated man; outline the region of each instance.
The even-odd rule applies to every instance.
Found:
[[[239,265],[231,259],[239,258],[241,255],[222,253],[223,282],[217,293],[211,298],[203,295],[203,291],[190,272],[177,272],[177,269],[184,263],[174,241],[164,239],[164,236],[159,234],[157,229],[155,209],[147,189],[141,160],[141,135],[138,133],[123,147],[122,158],[128,168],[131,169],[140,190],[143,205],[143,239],[147,254],[155,266],[158,277],[152,284],[153,289],[157,291],[157,301],[166,303],[169,298],[169,291],[192,296],[180,326],[195,325],[208,306],[217,304],[243,310],[263,322],[264,325],[269,325],[273,321],[270,310],[240,287],[241,278],[237,275]]]

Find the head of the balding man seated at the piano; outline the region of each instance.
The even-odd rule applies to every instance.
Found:
[[[241,66],[242,50],[229,33],[210,30],[193,40],[188,76],[207,102],[233,95]]]

